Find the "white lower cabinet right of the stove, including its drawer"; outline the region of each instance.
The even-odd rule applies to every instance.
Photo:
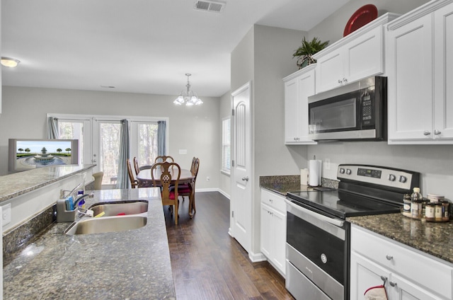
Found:
[[[389,300],[452,299],[453,267],[360,226],[351,226],[350,299],[385,282]]]

